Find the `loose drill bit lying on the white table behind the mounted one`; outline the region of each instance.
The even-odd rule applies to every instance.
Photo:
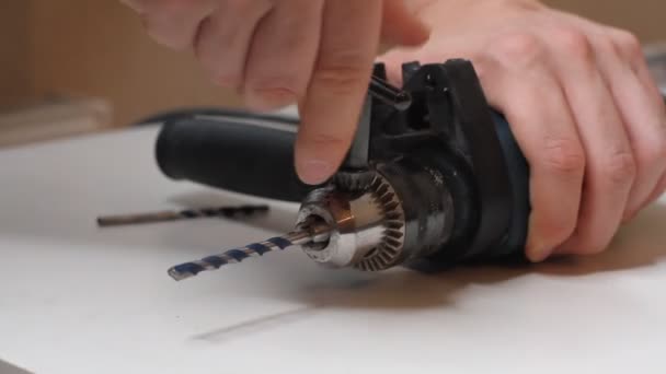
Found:
[[[188,220],[196,218],[226,217],[231,218],[238,214],[251,215],[268,210],[267,206],[239,206],[239,207],[217,207],[185,209],[181,211],[164,210],[158,212],[107,215],[97,218],[100,226],[117,226],[124,224],[154,223],[164,221]]]

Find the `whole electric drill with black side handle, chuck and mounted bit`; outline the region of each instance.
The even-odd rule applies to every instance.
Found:
[[[180,280],[300,245],[331,268],[437,271],[525,260],[528,165],[468,60],[375,66],[357,132],[337,173],[308,186],[294,167],[297,124],[271,116],[164,122],[157,162],[172,179],[300,202],[294,231],[169,269]]]

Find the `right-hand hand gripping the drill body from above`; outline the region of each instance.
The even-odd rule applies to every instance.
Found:
[[[527,254],[604,250],[666,187],[666,115],[636,38],[533,0],[420,1],[432,26],[400,63],[468,58],[531,173]]]

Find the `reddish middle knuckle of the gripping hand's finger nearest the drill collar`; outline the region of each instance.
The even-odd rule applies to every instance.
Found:
[[[577,141],[551,138],[543,148],[541,163],[550,173],[577,178],[585,170],[585,152]]]

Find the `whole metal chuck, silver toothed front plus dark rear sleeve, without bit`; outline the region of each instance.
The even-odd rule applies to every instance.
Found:
[[[386,270],[439,249],[451,236],[453,201],[440,171],[414,160],[381,165],[366,187],[354,178],[311,192],[298,226],[328,225],[329,241],[303,250],[326,267]]]

